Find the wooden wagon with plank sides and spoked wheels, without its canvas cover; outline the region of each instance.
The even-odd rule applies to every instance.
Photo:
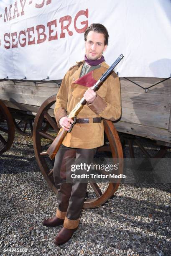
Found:
[[[161,148],[156,157],[164,155],[166,148],[171,146],[171,79],[159,78],[120,78],[122,117],[114,124],[103,120],[107,141],[99,151],[111,151],[112,157],[123,158],[121,138],[128,139],[131,157],[133,157],[133,141],[145,149],[138,142],[141,136],[157,141]],[[158,83],[160,82],[160,83]],[[53,161],[40,153],[46,151],[54,140],[59,129],[54,118],[54,102],[61,80],[56,81],[0,81],[0,141],[1,153],[9,149],[14,138],[14,125],[18,132],[32,136],[36,160],[41,172],[52,189],[56,192],[53,179]],[[139,86],[137,86],[137,84]],[[152,86],[156,84],[155,86]],[[150,87],[148,90],[143,89]],[[8,128],[4,128],[4,124]],[[34,125],[33,125],[34,123]],[[117,129],[117,131],[116,131]],[[129,137],[125,136],[129,134]],[[3,138],[3,136],[5,136]],[[146,153],[148,155],[148,153]],[[123,166],[118,170],[123,172]],[[84,203],[85,208],[102,205],[110,198],[119,186],[109,183],[105,189],[99,184],[91,183],[90,195]]]

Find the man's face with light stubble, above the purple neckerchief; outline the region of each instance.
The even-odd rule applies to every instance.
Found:
[[[90,31],[85,42],[85,50],[87,58],[90,60],[100,59],[106,50],[105,36],[102,33]]]

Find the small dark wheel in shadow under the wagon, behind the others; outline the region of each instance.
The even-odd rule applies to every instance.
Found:
[[[20,119],[13,118],[15,129],[23,136],[32,136],[33,135],[33,123],[34,123],[34,117],[30,117],[27,119]]]

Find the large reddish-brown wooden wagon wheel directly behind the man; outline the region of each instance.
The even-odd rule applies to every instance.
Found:
[[[53,95],[49,97],[45,102],[43,102],[43,104],[39,108],[33,125],[33,145],[36,160],[38,162],[38,166],[41,169],[44,178],[48,182],[49,186],[54,190],[54,192],[57,192],[53,178],[54,161],[51,161],[47,155],[40,155],[41,152],[47,150],[48,146],[50,146],[51,142],[54,140],[56,134],[59,131],[55,118],[52,118],[50,115],[50,111],[52,111],[50,108],[55,103],[55,101],[56,95]],[[48,120],[53,129],[49,128],[48,131],[43,131],[44,127],[42,125],[42,122],[44,118]],[[103,120],[103,123],[110,146],[108,145],[101,147],[100,151],[107,151],[110,147],[112,157],[115,159],[122,159],[122,146],[114,125],[112,124],[112,122],[107,120]],[[120,174],[123,172],[122,163],[120,164],[118,172]],[[93,199],[85,200],[84,208],[94,208],[102,205],[104,202],[107,201],[107,199],[109,199],[115,193],[119,184],[120,180],[118,180],[117,183],[109,183],[107,184],[107,187],[104,191],[101,191],[100,187],[96,183],[90,184],[94,190],[95,197]]]

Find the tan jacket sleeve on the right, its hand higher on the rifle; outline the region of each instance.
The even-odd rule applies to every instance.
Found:
[[[105,84],[107,83],[107,84]],[[97,115],[102,118],[115,121],[121,116],[121,97],[120,97],[120,80],[119,77],[112,75],[107,78],[102,86],[107,86],[105,98],[100,97],[97,91],[95,100],[87,105]]]

